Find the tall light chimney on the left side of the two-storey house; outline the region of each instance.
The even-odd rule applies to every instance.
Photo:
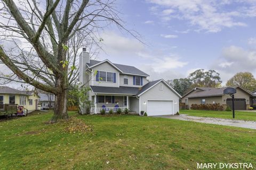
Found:
[[[82,84],[86,83],[86,74],[87,69],[86,63],[90,63],[90,55],[86,52],[86,48],[83,48],[82,53],[79,56],[79,82]]]

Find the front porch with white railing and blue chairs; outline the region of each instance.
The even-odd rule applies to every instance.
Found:
[[[111,110],[117,112],[119,109],[124,112],[126,108],[130,110],[130,99],[133,98],[132,96],[121,95],[94,95],[92,96],[94,106],[91,108],[91,113],[97,114],[102,110],[105,110],[106,113]]]

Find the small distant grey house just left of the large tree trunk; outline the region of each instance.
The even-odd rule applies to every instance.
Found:
[[[38,94],[40,96],[40,103],[41,103],[41,109],[53,109],[54,103],[55,103],[55,96],[53,94],[47,95],[47,94]]]

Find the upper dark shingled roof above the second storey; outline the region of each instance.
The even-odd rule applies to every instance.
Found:
[[[90,63],[87,63],[87,65],[93,66],[95,64],[100,63],[101,61],[97,61],[97,60],[90,60]],[[139,75],[145,75],[145,76],[149,76],[148,74],[146,74],[145,72],[137,69],[134,66],[130,66],[130,65],[123,65],[123,64],[115,64],[113,63],[116,67],[118,67],[118,69],[122,70],[124,73],[128,73],[128,74],[139,74]]]

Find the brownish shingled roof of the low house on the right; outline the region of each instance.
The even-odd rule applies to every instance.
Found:
[[[222,87],[222,88],[197,87],[197,89],[201,89],[203,91],[197,91],[197,92],[188,94],[186,97],[196,98],[196,97],[207,97],[207,96],[209,96],[209,97],[210,96],[222,96],[223,90],[225,90],[226,88],[227,87]],[[237,88],[237,87],[234,87],[234,88]],[[242,90],[244,90],[244,89],[242,89]],[[249,91],[246,91],[246,90],[244,90],[244,91],[247,92],[248,94],[250,94],[251,96],[253,96],[253,94],[251,94]]]

